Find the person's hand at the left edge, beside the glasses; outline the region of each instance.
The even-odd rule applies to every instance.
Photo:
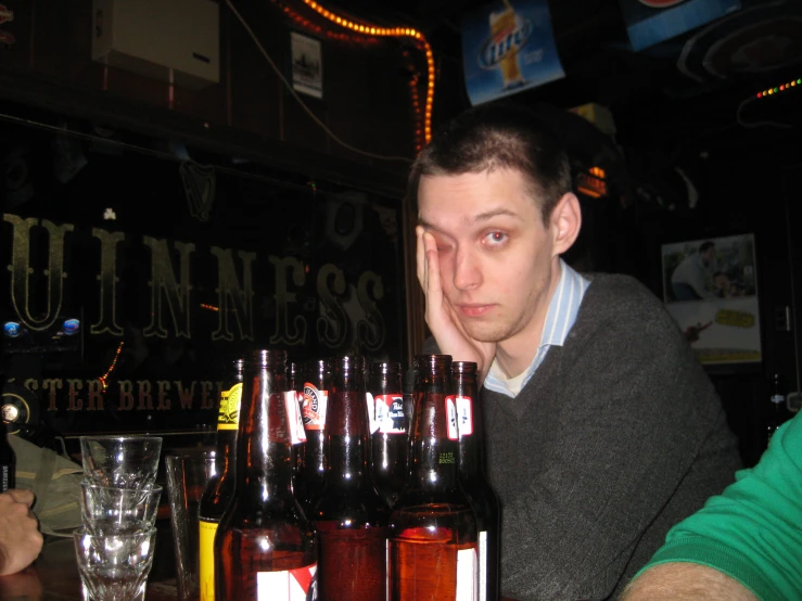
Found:
[[[41,551],[43,539],[30,511],[33,504],[30,490],[0,495],[0,576],[25,570]]]

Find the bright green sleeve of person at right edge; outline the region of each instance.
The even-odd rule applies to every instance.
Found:
[[[777,430],[758,465],[674,526],[638,574],[669,562],[713,567],[763,601],[802,599],[802,414]]]

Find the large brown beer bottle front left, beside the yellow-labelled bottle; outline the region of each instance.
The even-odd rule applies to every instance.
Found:
[[[220,601],[317,599],[315,527],[292,494],[285,363],[283,350],[258,350],[245,363],[237,484],[215,537]]]

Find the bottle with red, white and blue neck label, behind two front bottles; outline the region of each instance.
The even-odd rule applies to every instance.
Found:
[[[390,507],[407,477],[407,424],[400,363],[371,363],[370,394],[379,430],[373,434],[373,483]]]

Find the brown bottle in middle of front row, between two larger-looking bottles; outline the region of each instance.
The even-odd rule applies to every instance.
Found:
[[[370,473],[370,430],[362,357],[332,362],[326,409],[327,466],[314,515],[326,601],[385,601],[390,508]]]

